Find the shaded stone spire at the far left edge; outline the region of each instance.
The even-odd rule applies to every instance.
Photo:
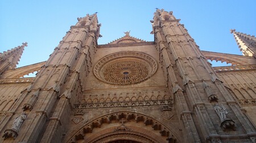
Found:
[[[0,75],[2,75],[3,72],[13,70],[16,67],[25,46],[27,46],[27,42],[22,43],[21,46],[0,53]]]

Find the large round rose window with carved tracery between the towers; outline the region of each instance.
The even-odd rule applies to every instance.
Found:
[[[115,85],[138,84],[157,70],[156,61],[147,54],[125,51],[102,58],[94,67],[97,79]]]

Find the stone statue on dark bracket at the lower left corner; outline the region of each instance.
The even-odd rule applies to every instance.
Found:
[[[13,125],[11,125],[11,129],[6,129],[3,133],[3,139],[13,137],[14,139],[18,136],[19,128],[22,125],[23,121],[26,120],[27,115],[23,112],[21,115],[17,116],[14,119]]]

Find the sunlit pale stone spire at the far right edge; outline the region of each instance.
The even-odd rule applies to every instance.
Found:
[[[236,32],[236,29],[230,29],[234,34],[237,45],[243,55],[256,58],[256,38],[245,33]]]

